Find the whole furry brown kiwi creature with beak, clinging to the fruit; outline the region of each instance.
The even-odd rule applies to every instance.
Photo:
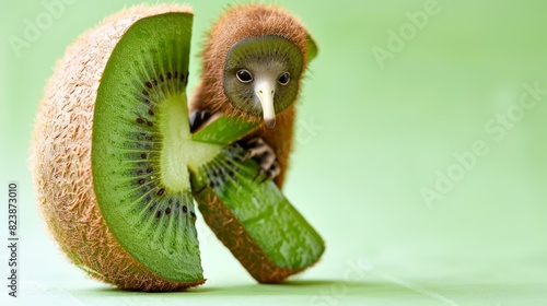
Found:
[[[282,187],[294,129],[294,104],[306,69],[307,32],[281,8],[230,8],[208,32],[201,82],[189,102],[196,130],[216,114],[264,122],[243,140],[260,173]]]

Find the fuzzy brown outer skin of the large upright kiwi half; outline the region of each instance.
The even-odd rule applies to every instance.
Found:
[[[63,252],[92,278],[132,291],[179,291],[205,280],[164,280],[132,258],[105,223],[94,191],[93,110],[114,47],[136,21],[187,5],[137,5],[84,33],[59,60],[39,104],[32,141],[32,172],[42,214]]]

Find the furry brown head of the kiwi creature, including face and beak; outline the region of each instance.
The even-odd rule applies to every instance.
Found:
[[[298,99],[310,51],[316,50],[310,43],[306,28],[279,7],[230,7],[208,32],[202,82],[193,102],[274,128],[276,116]]]

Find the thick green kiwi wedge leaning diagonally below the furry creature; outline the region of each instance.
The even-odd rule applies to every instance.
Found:
[[[205,221],[260,283],[278,283],[315,263],[325,243],[238,145],[225,146],[191,176]]]

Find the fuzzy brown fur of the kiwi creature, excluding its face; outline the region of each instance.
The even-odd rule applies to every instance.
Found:
[[[202,51],[201,83],[190,101],[190,111],[208,109],[237,116],[248,121],[261,121],[261,117],[251,117],[235,108],[223,89],[223,71],[230,48],[247,37],[264,35],[281,36],[294,43],[306,58],[306,30],[290,13],[275,5],[243,4],[230,8],[208,33]],[[300,80],[293,80],[300,82]],[[294,126],[294,104],[277,116],[277,126],[269,130],[260,128],[251,137],[263,138],[276,152],[280,175],[276,184],[282,187],[291,151]]]

